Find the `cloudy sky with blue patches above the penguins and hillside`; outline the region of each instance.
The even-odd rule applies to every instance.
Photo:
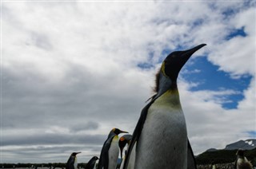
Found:
[[[198,155],[256,138],[255,1],[1,1],[0,163],[78,163],[132,133],[172,51]],[[120,135],[122,136],[122,135]]]

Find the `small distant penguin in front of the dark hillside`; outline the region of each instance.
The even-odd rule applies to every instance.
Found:
[[[244,152],[245,151],[242,149],[239,149],[237,151],[237,160],[235,161],[234,164],[235,169],[253,169],[253,166],[251,165],[250,161],[246,159]]]

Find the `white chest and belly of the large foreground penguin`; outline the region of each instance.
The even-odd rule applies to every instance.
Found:
[[[138,140],[135,168],[187,167],[186,121],[180,105],[156,102],[148,109]]]

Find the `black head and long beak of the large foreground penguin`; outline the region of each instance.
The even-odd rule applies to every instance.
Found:
[[[169,78],[173,84],[176,83],[178,78],[178,73],[182,69],[183,65],[186,64],[186,61],[195,53],[198,49],[201,49],[206,44],[197,45],[192,49],[183,50],[183,51],[174,51],[170,53],[166,59],[162,62],[162,67],[159,72],[156,74],[156,87],[154,92],[158,92],[160,74],[164,77]]]

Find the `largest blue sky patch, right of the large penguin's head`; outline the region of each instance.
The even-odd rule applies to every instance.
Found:
[[[207,61],[206,57],[197,57],[191,64],[186,66],[187,73],[184,73],[186,81],[197,83],[198,85],[190,88],[191,91],[198,90],[233,90],[234,93],[220,96],[223,100],[222,107],[231,109],[237,108],[241,101],[243,90],[249,87],[252,76],[244,75],[239,78],[230,77],[229,73],[218,70],[217,65]]]

